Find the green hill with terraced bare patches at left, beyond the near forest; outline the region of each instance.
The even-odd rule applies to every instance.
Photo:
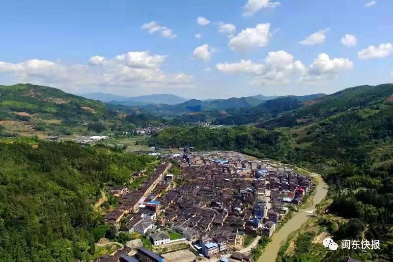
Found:
[[[31,84],[0,86],[0,121],[14,126],[20,122],[32,128],[32,132],[55,135],[86,131],[89,125],[95,129],[92,131],[100,133],[116,128],[131,131],[135,126],[163,123],[145,110],[110,105]],[[94,128],[97,126],[100,128]]]

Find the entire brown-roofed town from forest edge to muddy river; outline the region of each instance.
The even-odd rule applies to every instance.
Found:
[[[253,261],[260,240],[269,239],[313,187],[311,177],[292,167],[233,151],[185,148],[157,158],[160,164],[138,188],[109,189],[117,204],[104,219],[132,239],[94,261]],[[111,244],[101,239],[97,245],[105,241]]]

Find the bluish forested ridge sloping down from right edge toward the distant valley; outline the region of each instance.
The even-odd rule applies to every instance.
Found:
[[[258,124],[259,127],[293,127],[312,123],[347,110],[383,104],[393,98],[393,84],[350,87],[330,95],[285,96],[258,106],[227,111],[215,124]]]

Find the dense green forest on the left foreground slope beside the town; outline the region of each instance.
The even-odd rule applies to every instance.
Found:
[[[129,182],[147,155],[36,139],[0,141],[0,258],[72,261],[94,253],[104,185]]]

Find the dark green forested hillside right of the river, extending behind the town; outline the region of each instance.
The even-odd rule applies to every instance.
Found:
[[[292,128],[274,127],[281,126],[280,117],[269,129],[172,127],[147,143],[237,150],[322,174],[331,186],[333,202],[329,211],[343,218],[360,219],[364,227],[367,225],[365,236],[381,239],[384,257],[393,259],[392,94],[393,85],[349,88],[322,98],[329,103],[285,113],[312,117],[309,123]],[[338,239],[344,236],[348,234],[336,235]]]

